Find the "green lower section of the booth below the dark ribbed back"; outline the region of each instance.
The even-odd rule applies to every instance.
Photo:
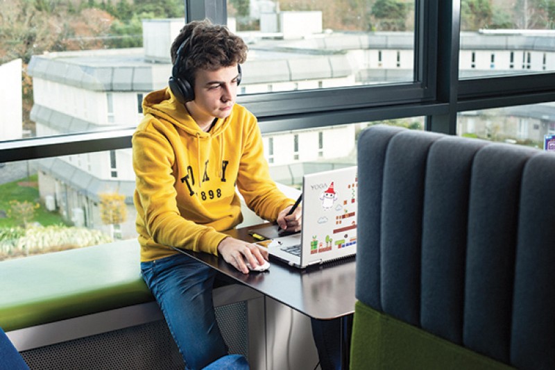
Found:
[[[357,301],[350,369],[513,369]]]

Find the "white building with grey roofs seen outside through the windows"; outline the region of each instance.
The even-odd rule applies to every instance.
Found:
[[[282,19],[299,22],[302,17]],[[169,47],[181,26],[182,19],[145,21],[144,49],[34,56],[28,72],[33,76],[35,106],[31,118],[37,124],[37,135],[136,126],[142,117],[144,94],[167,85],[171,74]],[[318,33],[292,38],[280,37],[280,30],[276,31],[271,37],[242,35],[250,51],[243,66],[241,94],[413,79],[412,33]],[[549,35],[522,35],[516,45],[509,44],[506,37],[464,34],[461,74],[555,69],[555,44]],[[543,107],[547,113],[541,117],[519,114],[518,107],[499,110],[499,117],[461,115],[459,132],[491,137],[488,132],[492,125],[504,125],[502,132],[507,137],[502,140],[537,140],[555,129],[552,105]],[[356,134],[357,128],[349,125],[264,135],[273,178],[296,185],[309,171],[352,165]],[[77,225],[109,230],[111,226],[104,225],[99,215],[99,195],[124,194],[128,218],[117,226],[118,231],[122,237],[135,236],[135,176],[130,149],[43,159],[39,169],[40,194],[46,207],[58,210]]]

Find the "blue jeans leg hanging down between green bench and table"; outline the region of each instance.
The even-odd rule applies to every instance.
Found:
[[[183,254],[141,262],[141,271],[186,369],[202,369],[228,354],[212,303],[216,271]]]

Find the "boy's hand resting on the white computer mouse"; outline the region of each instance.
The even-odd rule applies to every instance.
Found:
[[[257,244],[244,242],[234,237],[226,237],[218,244],[218,253],[225,262],[232,264],[233,267],[248,274],[249,270],[246,262],[251,266],[257,266],[268,260],[268,251]]]

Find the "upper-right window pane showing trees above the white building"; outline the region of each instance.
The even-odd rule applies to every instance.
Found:
[[[555,1],[461,1],[459,76],[551,72]]]

